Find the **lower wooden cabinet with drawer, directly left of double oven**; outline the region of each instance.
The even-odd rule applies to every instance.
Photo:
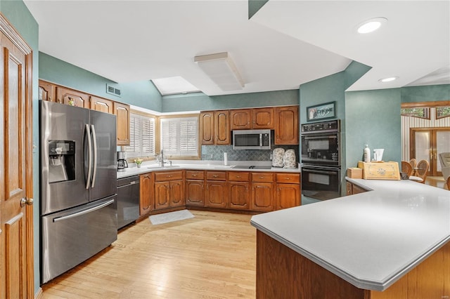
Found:
[[[275,209],[300,206],[300,173],[276,173]]]

